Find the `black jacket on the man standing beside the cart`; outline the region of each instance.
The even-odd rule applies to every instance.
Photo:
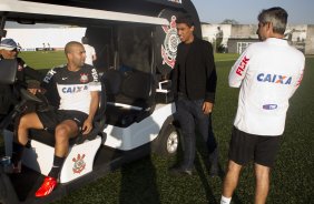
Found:
[[[174,96],[176,99],[179,84],[179,70],[186,65],[186,93],[189,100],[204,99],[215,102],[217,83],[213,47],[208,41],[194,38],[185,60],[180,43],[178,45],[176,64],[171,72]],[[185,61],[185,64],[180,62]]]

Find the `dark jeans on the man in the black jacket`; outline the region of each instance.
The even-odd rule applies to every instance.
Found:
[[[196,134],[195,128],[198,125],[198,131],[206,142],[208,153],[213,153],[217,147],[217,142],[212,128],[212,114],[203,113],[204,100],[188,100],[179,95],[176,101],[176,120],[179,122],[184,139],[184,162],[183,169],[192,170],[194,166],[196,151]]]

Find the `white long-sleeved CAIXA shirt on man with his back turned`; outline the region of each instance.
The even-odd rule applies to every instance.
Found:
[[[282,135],[288,100],[298,88],[304,54],[286,40],[251,44],[233,65],[229,85],[239,88],[234,125],[246,133]]]

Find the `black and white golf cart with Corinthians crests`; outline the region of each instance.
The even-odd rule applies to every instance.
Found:
[[[43,3],[45,2],[45,3]],[[189,0],[110,0],[94,1],[12,1],[1,0],[0,35],[6,37],[7,21],[23,24],[53,23],[86,29],[101,72],[101,102],[95,129],[88,136],[71,141],[63,163],[60,185],[43,198],[35,192],[47,175],[53,160],[53,134],[32,130],[22,157],[22,172],[8,174],[0,167],[0,203],[48,203],[70,191],[104,176],[108,171],[150,152],[173,155],[178,149],[179,134],[174,125],[175,105],[169,72],[176,48],[175,19],[190,13],[200,35],[196,10]],[[55,4],[53,4],[55,3]],[[23,34],[23,33],[21,33]],[[9,38],[9,37],[8,37]],[[36,37],[35,37],[36,38]],[[14,61],[0,61],[1,83],[14,83]],[[10,79],[10,80],[9,80]],[[22,113],[22,103],[41,103],[38,98],[20,90],[22,101],[1,122],[6,156],[11,156],[13,120]],[[52,105],[58,95],[46,95]]]

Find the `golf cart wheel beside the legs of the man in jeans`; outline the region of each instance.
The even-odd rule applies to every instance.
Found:
[[[173,124],[168,124],[158,140],[157,154],[163,156],[175,155],[179,146],[179,132]]]

